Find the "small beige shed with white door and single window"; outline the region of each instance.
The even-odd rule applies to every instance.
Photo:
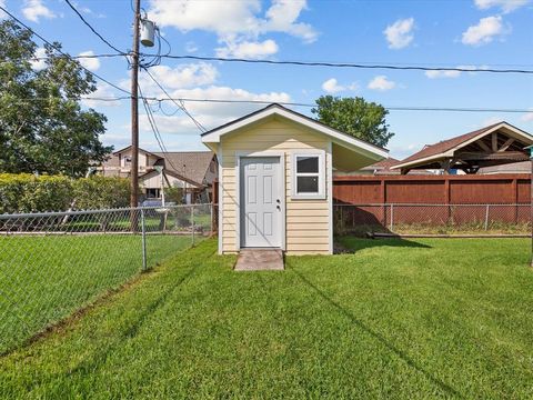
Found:
[[[202,134],[219,159],[219,252],[333,252],[333,168],[353,171],[388,151],[279,104]]]

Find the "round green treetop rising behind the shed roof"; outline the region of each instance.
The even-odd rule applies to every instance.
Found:
[[[381,104],[363,98],[321,96],[311,110],[316,119],[341,132],[351,134],[376,146],[385,147],[394,136],[389,131],[385,117],[389,111]]]

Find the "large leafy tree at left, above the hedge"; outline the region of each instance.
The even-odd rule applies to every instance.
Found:
[[[38,66],[31,32],[12,21],[0,22],[0,172],[79,177],[103,161],[107,118],[80,106],[97,89],[93,76],[59,43],[46,44]]]

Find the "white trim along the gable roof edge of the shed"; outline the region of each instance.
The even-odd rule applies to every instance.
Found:
[[[289,120],[292,120],[296,123],[300,123],[302,126],[305,126],[310,129],[313,129],[318,132],[321,132],[323,134],[326,134],[333,139],[333,141],[338,144],[348,147],[348,148],[355,148],[359,150],[364,150],[365,152],[369,152],[378,158],[386,158],[389,156],[389,151],[385,149],[381,149],[379,147],[375,147],[373,144],[370,144],[363,140],[355,139],[346,133],[342,133],[333,128],[329,128],[323,126],[322,123],[314,122],[303,116],[299,116],[298,113],[291,112],[285,110],[284,108],[280,106],[271,106],[265,108],[262,111],[257,112],[255,114],[252,114],[248,118],[243,118],[242,120],[238,120],[234,123],[229,123],[227,126],[222,126],[221,128],[215,128],[214,130],[205,133],[202,136],[202,142],[203,143],[219,143],[220,138],[224,134],[231,133],[240,128],[243,128],[250,123],[257,122],[262,120],[263,118],[270,117],[270,116],[281,116],[283,118],[286,118]],[[348,144],[348,146],[346,146]],[[355,150],[354,149],[354,150]]]

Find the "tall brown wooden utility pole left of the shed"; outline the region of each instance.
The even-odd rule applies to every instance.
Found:
[[[139,29],[141,0],[135,0],[133,49],[131,51],[131,194],[130,207],[139,206]],[[137,223],[134,224],[137,227]]]

